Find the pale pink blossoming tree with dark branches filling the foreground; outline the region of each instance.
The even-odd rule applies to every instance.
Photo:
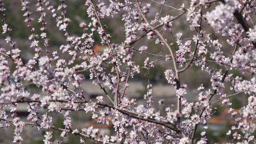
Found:
[[[228,107],[236,120],[226,132],[233,139],[230,143],[256,143],[255,0],[191,0],[189,4],[182,0],[84,0],[84,9],[78,10],[87,18],[79,26],[72,20],[75,11],[67,12],[65,0],[37,0],[35,9],[28,0],[20,0],[25,19],[22,21],[28,29],[24,33],[12,28],[21,21],[8,20],[11,16],[4,1],[0,0],[2,36],[10,46],[1,44],[0,48],[0,127],[15,127],[14,143],[24,140],[21,133],[25,126],[34,126],[45,131],[45,144],[61,143],[52,139],[54,130],[61,132],[60,137],[69,133],[79,136],[81,143],[92,139],[103,144],[206,144],[211,135],[207,120],[220,109],[213,107],[217,103]],[[151,4],[160,7],[155,9]],[[163,13],[163,9],[171,10],[171,14]],[[34,19],[32,11],[39,13],[39,18]],[[115,23],[106,18],[122,21],[123,27],[112,28],[121,29],[124,39],[108,33]],[[64,34],[56,51],[49,47],[52,39],[58,45],[58,37],[51,36],[47,28],[52,23]],[[72,33],[70,29],[74,27],[80,27],[80,31]],[[22,37],[29,35],[30,48],[19,49],[25,43],[16,44],[12,38],[16,30]],[[141,45],[143,39],[150,45]],[[96,42],[107,47],[102,52],[95,51]],[[33,57],[24,59],[21,55],[28,49],[34,50]],[[136,62],[135,56],[145,57],[144,63]],[[164,70],[154,66],[160,62],[164,63]],[[196,68],[209,75],[209,89],[205,88],[204,79],[189,71]],[[147,75],[140,76],[147,81],[144,105],[127,97],[129,81],[136,80],[140,72]],[[160,112],[153,106],[152,88],[162,79],[159,76],[153,80],[150,72],[161,72],[170,88],[175,88],[173,107],[164,106]],[[185,83],[182,79],[186,75],[199,83]],[[96,99],[85,95],[82,82],[90,80],[104,95]],[[38,91],[30,94],[29,90],[34,89],[30,85]],[[186,99],[190,87],[199,93],[193,102]],[[248,99],[239,113],[229,101],[238,95]],[[26,121],[16,114],[20,103],[27,104]],[[164,103],[165,100],[159,101],[160,105]],[[90,113],[99,123],[111,122],[115,133],[103,135],[93,127],[73,129],[71,114],[75,111]],[[56,112],[64,116],[62,127],[53,122]],[[196,138],[199,126],[203,127]]]

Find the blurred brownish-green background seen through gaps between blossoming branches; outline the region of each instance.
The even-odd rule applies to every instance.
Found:
[[[40,13],[36,11],[36,3],[37,0],[29,0],[30,1],[30,11],[33,11],[32,17],[35,18],[35,20],[32,21],[32,26],[36,28],[35,33],[40,34],[39,27],[41,27],[41,23],[37,22],[37,19],[40,16]],[[50,0],[51,4],[54,6],[58,6],[60,2],[58,0]],[[91,22],[91,19],[87,17],[86,14],[86,6],[84,5],[85,0],[66,0],[65,4],[67,4],[67,13],[66,17],[71,18],[71,22],[68,24],[68,30],[69,32],[74,36],[81,36],[82,30],[79,27],[79,24],[81,22],[86,22],[87,24]],[[101,0],[104,1],[104,0]],[[108,3],[108,0],[105,0],[106,3]],[[123,1],[123,0],[120,0]],[[151,0],[142,0],[143,3],[151,3],[151,12],[149,13],[149,18],[154,18],[155,13],[159,12],[161,9],[161,5],[158,3],[155,3]],[[157,2],[162,2],[162,0],[155,0]],[[10,28],[12,28],[12,31],[10,33],[10,36],[14,41],[17,42],[17,47],[21,49],[21,57],[23,58],[24,62],[27,62],[29,59],[33,58],[34,56],[34,49],[30,48],[30,41],[28,40],[28,36],[31,35],[30,29],[27,27],[27,24],[24,23],[24,11],[21,11],[21,2],[20,0],[4,0],[5,8],[6,10],[6,18],[7,23]],[[184,3],[185,6],[189,5],[189,0],[167,0],[166,5],[170,5],[176,8],[179,8],[181,4]],[[47,22],[47,29],[46,33],[48,35],[49,45],[50,47],[48,50],[50,51],[50,54],[54,51],[58,51],[58,54],[60,57],[66,57],[69,59],[69,56],[66,54],[62,54],[62,52],[59,50],[59,46],[62,44],[65,44],[65,37],[64,32],[58,30],[56,27],[55,19],[52,18],[50,11],[48,11],[45,8],[47,15],[46,15],[46,22]],[[122,21],[122,14],[124,12],[121,11],[119,14],[115,15],[113,18],[104,18],[102,19],[103,25],[107,25],[106,33],[110,34],[112,36],[111,42],[121,44],[125,40],[125,33],[124,33],[124,21]],[[176,16],[179,14],[180,11],[177,11],[175,9],[171,9],[168,7],[163,7],[163,12],[161,16],[165,15],[171,15]],[[160,17],[161,17],[160,16]],[[3,23],[1,22],[1,25]],[[191,32],[188,27],[188,22],[186,21],[186,16],[182,16],[178,20],[174,21],[173,23],[173,33],[171,31],[165,32],[165,37],[167,39],[170,39],[170,35],[175,35],[177,32],[183,32],[184,38],[190,38],[196,32]],[[214,33],[214,31],[211,29],[210,26],[206,25],[205,22],[203,22],[203,28],[207,30],[207,33]],[[142,33],[141,33],[142,34]],[[140,34],[138,34],[139,36]],[[218,35],[211,35],[211,37],[219,38],[219,41],[221,42],[221,36]],[[3,47],[5,49],[10,49],[11,47],[6,44],[5,35],[0,35],[0,47]],[[95,46],[94,49],[98,52],[101,52],[104,50],[105,46],[100,44],[100,38],[98,34],[96,33],[95,36]],[[221,43],[223,43],[223,46],[231,50],[232,47],[229,47],[229,45],[225,44],[225,39]],[[40,45],[42,45],[43,42],[40,41]],[[147,52],[154,53],[154,54],[168,54],[165,50],[165,47],[163,45],[153,45],[155,44],[154,40],[147,40],[146,38],[140,40],[138,43],[136,43],[135,47],[139,47],[142,45],[146,45],[148,47]],[[193,47],[192,47],[193,48]],[[150,57],[151,61],[154,61],[156,59],[159,59],[158,56],[152,56],[146,53],[143,54],[135,54],[134,61],[137,65],[143,66],[144,60],[146,57]],[[80,63],[80,62],[75,62]],[[219,68],[219,65],[214,65],[216,68]],[[13,72],[15,70],[15,64],[10,65],[12,68],[11,71]],[[148,84],[148,80],[153,85],[153,101],[154,101],[154,107],[156,110],[163,111],[165,107],[170,107],[171,105],[175,105],[176,103],[176,96],[174,88],[167,84],[167,81],[165,80],[164,72],[166,69],[169,69],[172,67],[172,64],[167,63],[165,61],[160,61],[158,63],[155,63],[155,67],[150,69],[150,71],[147,71],[146,69],[142,69],[141,72],[136,75],[134,79],[131,79],[129,81],[129,88],[127,90],[127,97],[132,99],[137,99],[138,104],[145,104],[145,99],[143,98],[144,94],[146,93],[146,85]],[[233,71],[234,75],[239,75],[242,77],[247,77],[247,75],[242,75],[241,73]],[[84,72],[83,73],[86,77],[89,78],[89,73]],[[136,80],[136,81],[135,81]],[[188,71],[183,72],[181,75],[181,83],[186,83],[188,85],[187,94],[185,95],[185,98],[188,101],[197,101],[198,100],[198,90],[197,88],[200,86],[200,84],[203,84],[205,87],[205,90],[208,90],[211,88],[210,83],[210,76],[206,73],[201,71],[201,68],[193,66]],[[226,86],[229,88],[229,84]],[[84,90],[84,93],[87,97],[91,99],[95,99],[99,95],[104,95],[103,91],[99,88],[99,86],[95,84],[91,84],[91,81],[88,79],[82,83],[82,89]],[[36,93],[38,91],[41,91],[40,88],[37,88],[35,85],[29,85],[27,86],[27,90],[32,95],[33,93]],[[229,93],[229,92],[228,92]],[[216,100],[219,98],[219,96],[214,97]],[[159,105],[158,101],[161,99],[164,100],[163,105]],[[232,102],[232,108],[237,109],[241,108],[247,103],[247,96],[244,95],[238,95],[236,97],[233,97],[231,99]],[[221,107],[221,104],[214,105],[215,108],[218,108],[219,110],[213,113],[212,119],[209,120],[208,130],[207,130],[207,137],[209,138],[209,144],[214,143],[225,143],[230,142],[232,140],[232,137],[229,137],[226,135],[230,127],[234,124],[234,119],[230,117],[230,115],[227,113],[228,108]],[[40,111],[40,113],[44,113],[45,111]],[[27,120],[27,105],[20,104],[17,110],[18,116],[22,117],[22,121]],[[57,114],[52,112],[51,116],[54,120],[54,125],[60,128],[64,128],[63,126],[63,115]],[[114,129],[112,128],[112,124],[110,125],[102,125],[97,123],[95,119],[91,119],[91,114],[85,114],[84,112],[72,112],[72,125],[73,129],[81,129],[83,127],[90,127],[93,126],[94,128],[99,128],[101,132],[104,134],[111,135],[114,133]],[[12,126],[10,129],[0,129],[0,144],[11,144],[13,141],[13,131],[14,127]],[[200,135],[199,129],[197,135]],[[44,144],[43,138],[44,138],[44,131],[38,131],[37,127],[31,127],[26,126],[26,128],[22,132],[24,144]],[[60,138],[60,132],[54,131],[53,138],[52,139],[61,139],[64,144],[78,144],[79,143],[79,136],[73,136],[68,135],[67,138],[63,139]],[[93,143],[88,140],[88,143]]]

